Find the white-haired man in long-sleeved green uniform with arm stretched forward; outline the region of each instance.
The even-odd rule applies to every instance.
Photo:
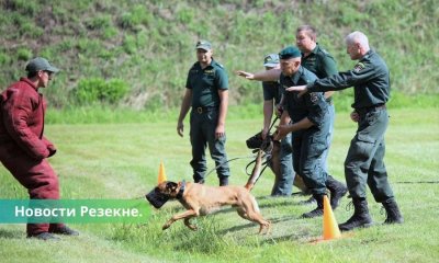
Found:
[[[389,124],[385,107],[390,96],[389,68],[384,60],[370,49],[368,37],[363,33],[350,33],[346,37],[346,46],[351,59],[359,60],[352,70],[306,85],[292,87],[288,91],[301,91],[301,94],[305,94],[353,87],[354,111],[351,118],[358,122],[358,129],[345,161],[345,176],[354,213],[346,222],[340,224],[339,228],[347,231],[372,224],[365,199],[367,185],[375,201],[382,203],[386,210],[384,224],[402,224],[404,219],[389,184],[383,161],[384,134]]]

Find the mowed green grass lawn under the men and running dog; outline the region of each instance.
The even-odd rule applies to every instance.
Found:
[[[24,225],[0,225],[1,262],[437,262],[439,259],[439,112],[437,108],[390,110],[385,162],[404,225],[382,226],[369,194],[376,225],[344,235],[342,239],[314,243],[322,237],[322,218],[300,219],[314,207],[300,206],[305,196],[269,197],[273,175],[268,170],[256,185],[261,211],[272,221],[272,232],[256,235],[258,226],[230,209],[196,219],[194,232],[176,222],[161,226],[182,208],[169,202],[153,210],[142,225],[72,225],[81,236],[59,242],[25,238]],[[261,119],[227,122],[229,158],[248,157],[245,140],[259,130]],[[190,144],[176,133],[176,123],[112,125],[48,125],[46,135],[58,147],[50,163],[58,172],[64,198],[136,198],[157,182],[160,161],[170,181],[191,181]],[[330,172],[344,180],[344,160],[356,125],[349,113],[338,113],[330,149]],[[250,159],[230,163],[232,184],[247,181]],[[213,168],[209,160],[210,168]],[[0,198],[26,198],[26,192],[0,168]],[[408,183],[412,182],[412,183]],[[216,185],[216,174],[207,184]],[[297,192],[295,188],[294,192]],[[347,220],[349,199],[335,210],[338,222]]]

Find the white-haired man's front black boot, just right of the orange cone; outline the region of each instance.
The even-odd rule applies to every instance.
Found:
[[[354,228],[372,226],[372,218],[369,215],[368,202],[365,198],[352,198],[353,216],[346,222],[338,225],[341,231],[350,231]]]

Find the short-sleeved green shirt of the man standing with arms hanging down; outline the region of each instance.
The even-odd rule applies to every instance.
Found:
[[[189,70],[185,88],[192,90],[192,107],[218,107],[218,90],[228,90],[228,77],[224,67],[212,59],[211,65],[201,68],[195,62]]]

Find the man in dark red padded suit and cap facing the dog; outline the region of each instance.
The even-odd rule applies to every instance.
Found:
[[[59,70],[37,57],[26,71],[27,78],[0,95],[0,161],[27,188],[31,199],[59,199],[58,176],[47,161],[56,148],[43,136],[46,101],[38,92]],[[29,238],[58,239],[53,233],[79,235],[63,224],[27,224]]]

